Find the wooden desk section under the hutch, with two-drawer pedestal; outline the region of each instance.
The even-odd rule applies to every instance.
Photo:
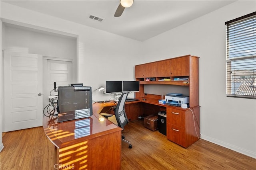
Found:
[[[183,109],[159,104],[157,98],[141,100],[144,116],[166,110],[166,137],[168,140],[187,148],[200,138],[200,106]]]

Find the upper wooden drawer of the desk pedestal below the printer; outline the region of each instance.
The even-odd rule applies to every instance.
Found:
[[[167,123],[185,128],[186,111],[167,108]]]

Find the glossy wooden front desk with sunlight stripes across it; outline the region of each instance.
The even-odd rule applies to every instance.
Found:
[[[56,146],[53,168],[121,169],[122,129],[105,118],[99,120],[103,107],[96,104],[91,117],[61,123],[56,116],[43,117],[44,132]]]

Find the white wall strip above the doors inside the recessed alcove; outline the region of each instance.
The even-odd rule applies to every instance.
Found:
[[[2,49],[76,60],[76,38],[4,23]]]

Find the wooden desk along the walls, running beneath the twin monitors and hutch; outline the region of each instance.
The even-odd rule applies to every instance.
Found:
[[[138,101],[126,102],[125,111],[129,120],[137,120],[138,116],[157,114],[166,110],[166,137],[168,140],[187,148],[200,138],[200,106],[183,109],[181,107],[159,104],[159,95],[147,94],[147,97],[137,98]],[[143,100],[145,99],[145,100]],[[113,103],[100,107],[108,108]]]

